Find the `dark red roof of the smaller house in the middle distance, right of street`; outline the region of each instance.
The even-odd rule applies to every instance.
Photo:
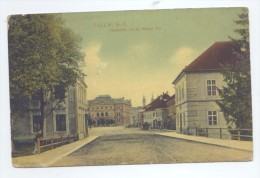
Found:
[[[144,107],[145,111],[151,111],[159,108],[166,108],[167,107],[167,101],[170,99],[170,96],[167,93],[164,93],[160,96],[158,96],[153,102],[146,105]]]

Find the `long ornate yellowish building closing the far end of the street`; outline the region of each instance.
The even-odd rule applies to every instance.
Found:
[[[98,125],[129,125],[131,100],[99,95],[88,101],[90,118]]]

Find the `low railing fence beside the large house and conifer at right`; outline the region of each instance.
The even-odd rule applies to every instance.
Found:
[[[252,129],[228,128],[187,128],[187,134],[205,137],[218,137],[220,139],[231,137],[232,140],[253,140]]]

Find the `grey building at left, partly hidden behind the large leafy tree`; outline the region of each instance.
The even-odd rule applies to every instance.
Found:
[[[68,95],[62,102],[50,101],[45,106],[43,137],[78,136],[79,139],[87,136],[85,111],[87,109],[87,85],[84,80],[77,81],[75,86],[69,87],[64,95]],[[40,98],[32,95],[28,98],[26,109],[18,119],[12,119],[13,143],[33,144],[40,132],[41,112]]]

